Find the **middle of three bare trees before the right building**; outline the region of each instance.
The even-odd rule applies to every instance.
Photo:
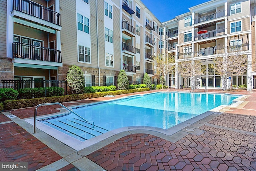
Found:
[[[187,89],[188,78],[200,76],[204,72],[201,70],[201,62],[199,60],[191,61],[184,59],[178,62],[178,73],[185,79],[185,88]]]

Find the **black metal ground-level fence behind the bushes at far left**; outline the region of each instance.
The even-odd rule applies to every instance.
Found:
[[[51,94],[67,95],[67,81],[62,80],[2,80],[2,85],[3,88],[22,89],[23,94],[38,93],[38,90],[33,88],[41,87],[40,96],[42,97]]]

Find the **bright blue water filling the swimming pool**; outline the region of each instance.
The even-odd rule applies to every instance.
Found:
[[[94,121],[95,127],[73,113],[40,121],[84,141],[126,126],[168,129],[219,105],[229,105],[237,97],[208,93],[152,93],[73,109],[86,120]]]

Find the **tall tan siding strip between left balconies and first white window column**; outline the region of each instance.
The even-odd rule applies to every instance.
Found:
[[[63,64],[76,64],[77,38],[76,38],[76,3],[75,1],[60,1],[61,26],[60,32]]]

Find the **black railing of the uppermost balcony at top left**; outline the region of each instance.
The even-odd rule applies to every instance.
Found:
[[[60,14],[30,0],[12,0],[13,10],[40,18],[60,26]]]

